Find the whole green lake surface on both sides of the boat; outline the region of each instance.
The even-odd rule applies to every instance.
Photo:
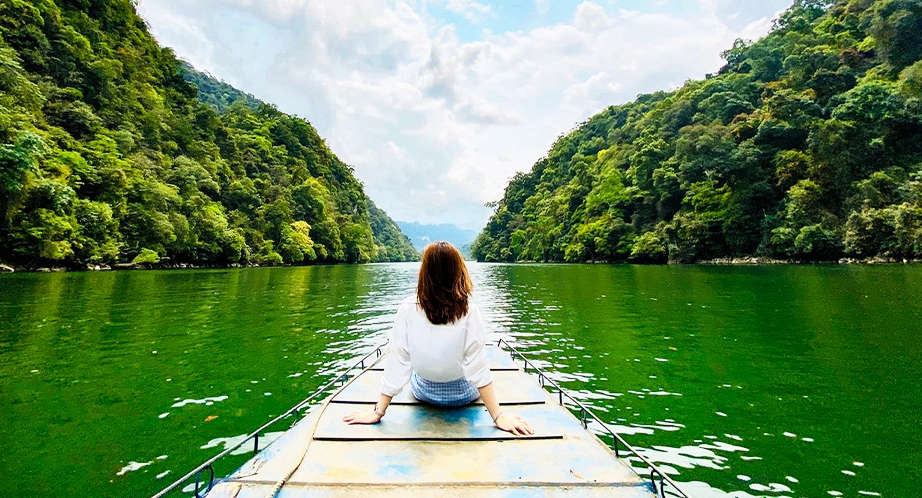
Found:
[[[692,496],[918,496],[922,267],[470,267]],[[2,495],[155,493],[383,341],[417,269],[0,275]]]

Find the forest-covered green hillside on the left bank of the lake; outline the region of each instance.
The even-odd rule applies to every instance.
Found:
[[[0,2],[0,215],[24,266],[417,257],[310,123],[184,67],[131,0]]]

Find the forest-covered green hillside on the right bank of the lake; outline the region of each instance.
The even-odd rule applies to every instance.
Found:
[[[922,2],[799,0],[511,179],[487,261],[922,257]]]

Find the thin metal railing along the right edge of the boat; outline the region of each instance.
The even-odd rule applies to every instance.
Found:
[[[548,375],[544,373],[544,371],[542,371],[540,368],[535,366],[535,364],[531,362],[524,354],[520,353],[517,349],[512,347],[512,345],[506,342],[505,339],[497,340],[496,345],[497,347],[505,348],[506,350],[508,350],[509,355],[513,360],[515,360],[516,357],[522,360],[525,363],[526,373],[528,372],[529,368],[533,369],[535,373],[538,375],[538,384],[540,384],[542,388],[546,388],[548,385],[550,385],[553,389],[556,389],[557,399],[558,399],[558,403],[560,404],[560,406],[570,409],[570,407],[564,404],[564,398],[568,399],[571,403],[573,403],[579,409],[578,410],[579,420],[583,424],[583,429],[586,429],[586,430],[589,429],[589,422],[588,422],[587,417],[591,418],[596,423],[598,423],[599,426],[605,429],[605,431],[608,432],[608,434],[612,437],[612,441],[614,441],[614,445],[612,449],[615,452],[615,457],[621,458],[621,447],[623,447],[630,454],[632,454],[633,456],[638,458],[641,462],[643,462],[645,465],[647,465],[650,468],[650,483],[653,485],[653,491],[656,493],[658,497],[666,498],[666,493],[668,492],[670,496],[679,496],[682,498],[689,498],[689,496],[686,495],[679,488],[679,486],[675,483],[675,481],[672,480],[672,478],[670,478],[669,476],[664,474],[663,471],[658,469],[656,465],[653,464],[653,462],[651,462],[646,457],[638,453],[637,450],[634,449],[633,446],[629,445],[627,441],[625,441],[624,438],[621,437],[620,434],[611,430],[608,424],[606,424],[605,422],[602,421],[602,419],[597,417],[595,413],[592,413],[592,411],[590,411],[589,408],[586,408],[586,405],[582,404],[578,399],[574,398],[568,392],[564,391],[563,388],[560,387],[559,384],[554,382],[554,379],[551,379],[550,377],[548,377]],[[658,484],[657,484],[657,480],[659,480]],[[666,488],[667,485],[670,486],[671,489],[667,489]]]

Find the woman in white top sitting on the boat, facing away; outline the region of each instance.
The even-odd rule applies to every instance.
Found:
[[[376,424],[391,399],[410,384],[416,399],[460,406],[480,398],[497,428],[515,435],[534,434],[524,420],[499,408],[480,311],[468,301],[473,290],[461,254],[448,242],[423,251],[416,297],[400,304],[391,332],[381,397],[371,410],[343,417],[347,424]]]

